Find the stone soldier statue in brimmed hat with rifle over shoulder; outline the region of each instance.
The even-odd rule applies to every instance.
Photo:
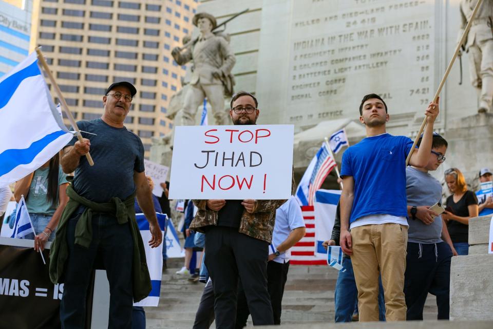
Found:
[[[199,37],[172,50],[172,56],[179,65],[193,61],[181,125],[195,124],[197,108],[205,97],[211,104],[216,124],[227,124],[229,120],[224,111],[224,96],[231,96],[233,92],[231,70],[236,62],[235,56],[226,39],[213,33],[217,27],[213,15],[197,13],[192,22],[200,31]]]

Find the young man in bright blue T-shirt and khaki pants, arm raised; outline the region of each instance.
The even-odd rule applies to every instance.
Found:
[[[409,164],[422,168],[431,152],[438,103],[426,109],[421,147]],[[358,287],[359,321],[378,321],[378,272],[381,272],[387,321],[406,320],[404,271],[407,248],[406,157],[412,140],[386,133],[387,105],[376,94],[359,105],[367,137],[343,155],[340,175],[340,246],[351,255]],[[350,232],[351,231],[351,232]]]

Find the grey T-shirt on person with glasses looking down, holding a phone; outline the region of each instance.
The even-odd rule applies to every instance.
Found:
[[[442,185],[430,174],[412,167],[406,168],[406,195],[408,206],[433,206],[442,199]],[[430,225],[418,218],[408,218],[408,241],[414,243],[442,242],[442,216],[435,217]]]

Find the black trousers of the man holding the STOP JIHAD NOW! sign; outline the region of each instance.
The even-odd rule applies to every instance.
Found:
[[[214,286],[216,328],[235,327],[238,278],[253,324],[274,324],[267,291],[268,248],[266,241],[234,228],[217,226],[205,234],[205,266]]]

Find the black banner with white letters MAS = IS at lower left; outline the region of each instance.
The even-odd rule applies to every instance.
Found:
[[[0,328],[60,328],[63,284],[48,274],[49,250],[0,245]]]

